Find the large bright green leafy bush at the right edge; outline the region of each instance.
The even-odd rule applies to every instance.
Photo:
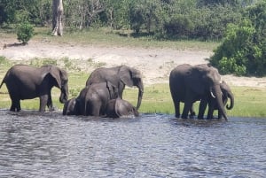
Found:
[[[266,1],[246,10],[246,19],[227,27],[210,63],[222,74],[266,74]]]

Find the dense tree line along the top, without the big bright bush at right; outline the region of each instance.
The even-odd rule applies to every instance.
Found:
[[[52,0],[0,0],[2,26],[51,26]],[[158,38],[220,39],[254,0],[63,0],[66,28],[132,29]]]

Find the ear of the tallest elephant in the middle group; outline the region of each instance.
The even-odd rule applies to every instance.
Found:
[[[121,81],[129,87],[133,87],[134,85],[133,77],[132,77],[134,70],[136,69],[132,69],[129,66],[121,66],[119,70],[119,76],[120,76]]]

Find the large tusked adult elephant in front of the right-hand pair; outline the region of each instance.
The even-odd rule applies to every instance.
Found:
[[[175,104],[176,118],[180,117],[180,102],[184,102],[182,118],[186,119],[188,112],[195,101],[205,97],[210,93],[215,97],[218,109],[227,120],[223,107],[222,91],[220,89],[221,76],[213,66],[188,64],[176,66],[169,76],[169,87],[171,96]],[[200,104],[199,112],[205,108]]]

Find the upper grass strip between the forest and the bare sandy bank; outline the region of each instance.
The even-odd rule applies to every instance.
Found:
[[[51,29],[47,27],[35,27],[35,35],[32,40],[67,43],[70,45],[97,45],[106,47],[135,47],[135,48],[166,48],[174,50],[214,50],[219,43],[217,42],[200,42],[194,40],[166,41],[156,40],[151,35],[133,37],[131,31],[115,31],[108,28],[98,28],[90,30],[80,30],[71,32],[65,30],[63,36],[51,36]],[[1,38],[16,39],[13,30],[0,28]],[[30,43],[30,41],[29,41]]]

